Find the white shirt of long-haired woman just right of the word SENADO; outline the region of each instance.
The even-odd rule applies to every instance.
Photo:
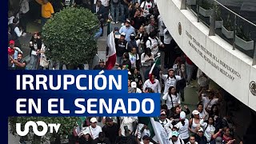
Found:
[[[171,98],[172,98],[172,100],[171,100]],[[170,110],[174,106],[178,106],[179,104],[181,104],[179,94],[177,94],[177,96],[174,94],[171,94],[171,98],[168,93],[166,93],[164,96],[162,96],[162,99],[166,100],[166,106],[168,107],[168,110]]]

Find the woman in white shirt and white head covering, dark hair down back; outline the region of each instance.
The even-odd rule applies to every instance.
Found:
[[[181,138],[185,143],[189,142],[189,120],[186,118],[184,111],[180,114],[180,122],[178,122],[174,127],[178,128],[178,138]]]

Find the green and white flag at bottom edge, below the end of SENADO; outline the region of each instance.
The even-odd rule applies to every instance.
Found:
[[[150,138],[159,144],[169,144],[168,134],[166,130],[162,127],[159,119],[150,117],[138,117],[138,123],[142,123],[148,126],[150,130]]]

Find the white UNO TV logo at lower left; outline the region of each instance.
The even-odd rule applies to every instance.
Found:
[[[34,134],[36,134],[38,136],[44,136],[48,132],[48,127],[50,128],[50,133],[54,133],[54,130],[57,133],[59,126],[61,126],[61,124],[49,123],[47,125],[46,122],[42,122],[42,121],[38,121],[38,122],[30,121],[30,122],[26,122],[26,124],[24,126],[24,130],[22,131],[21,123],[16,123],[17,134],[20,136],[25,136],[26,134],[29,133],[30,126],[32,126],[32,128],[33,128]],[[38,126],[42,126],[42,131],[38,130]]]

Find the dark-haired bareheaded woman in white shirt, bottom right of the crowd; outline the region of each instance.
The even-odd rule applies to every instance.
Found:
[[[204,135],[206,136],[207,142],[209,142],[209,143],[214,142],[214,139],[217,138],[218,134],[220,134],[222,132],[222,129],[220,129],[215,134],[214,118],[213,117],[209,117],[208,122],[203,122],[201,124],[201,126],[205,131]]]

